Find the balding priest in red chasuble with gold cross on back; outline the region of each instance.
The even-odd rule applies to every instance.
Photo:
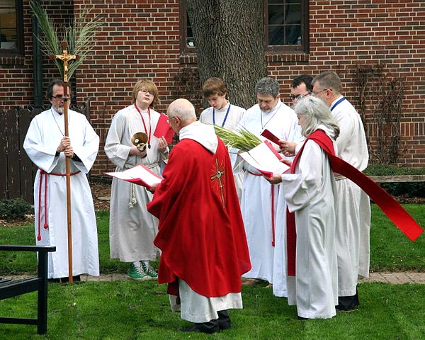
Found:
[[[167,115],[180,142],[147,204],[159,219],[158,280],[169,284],[171,308],[194,323],[182,331],[213,333],[230,327],[228,309],[242,308],[241,276],[251,268],[232,166],[189,101],[177,99]]]

